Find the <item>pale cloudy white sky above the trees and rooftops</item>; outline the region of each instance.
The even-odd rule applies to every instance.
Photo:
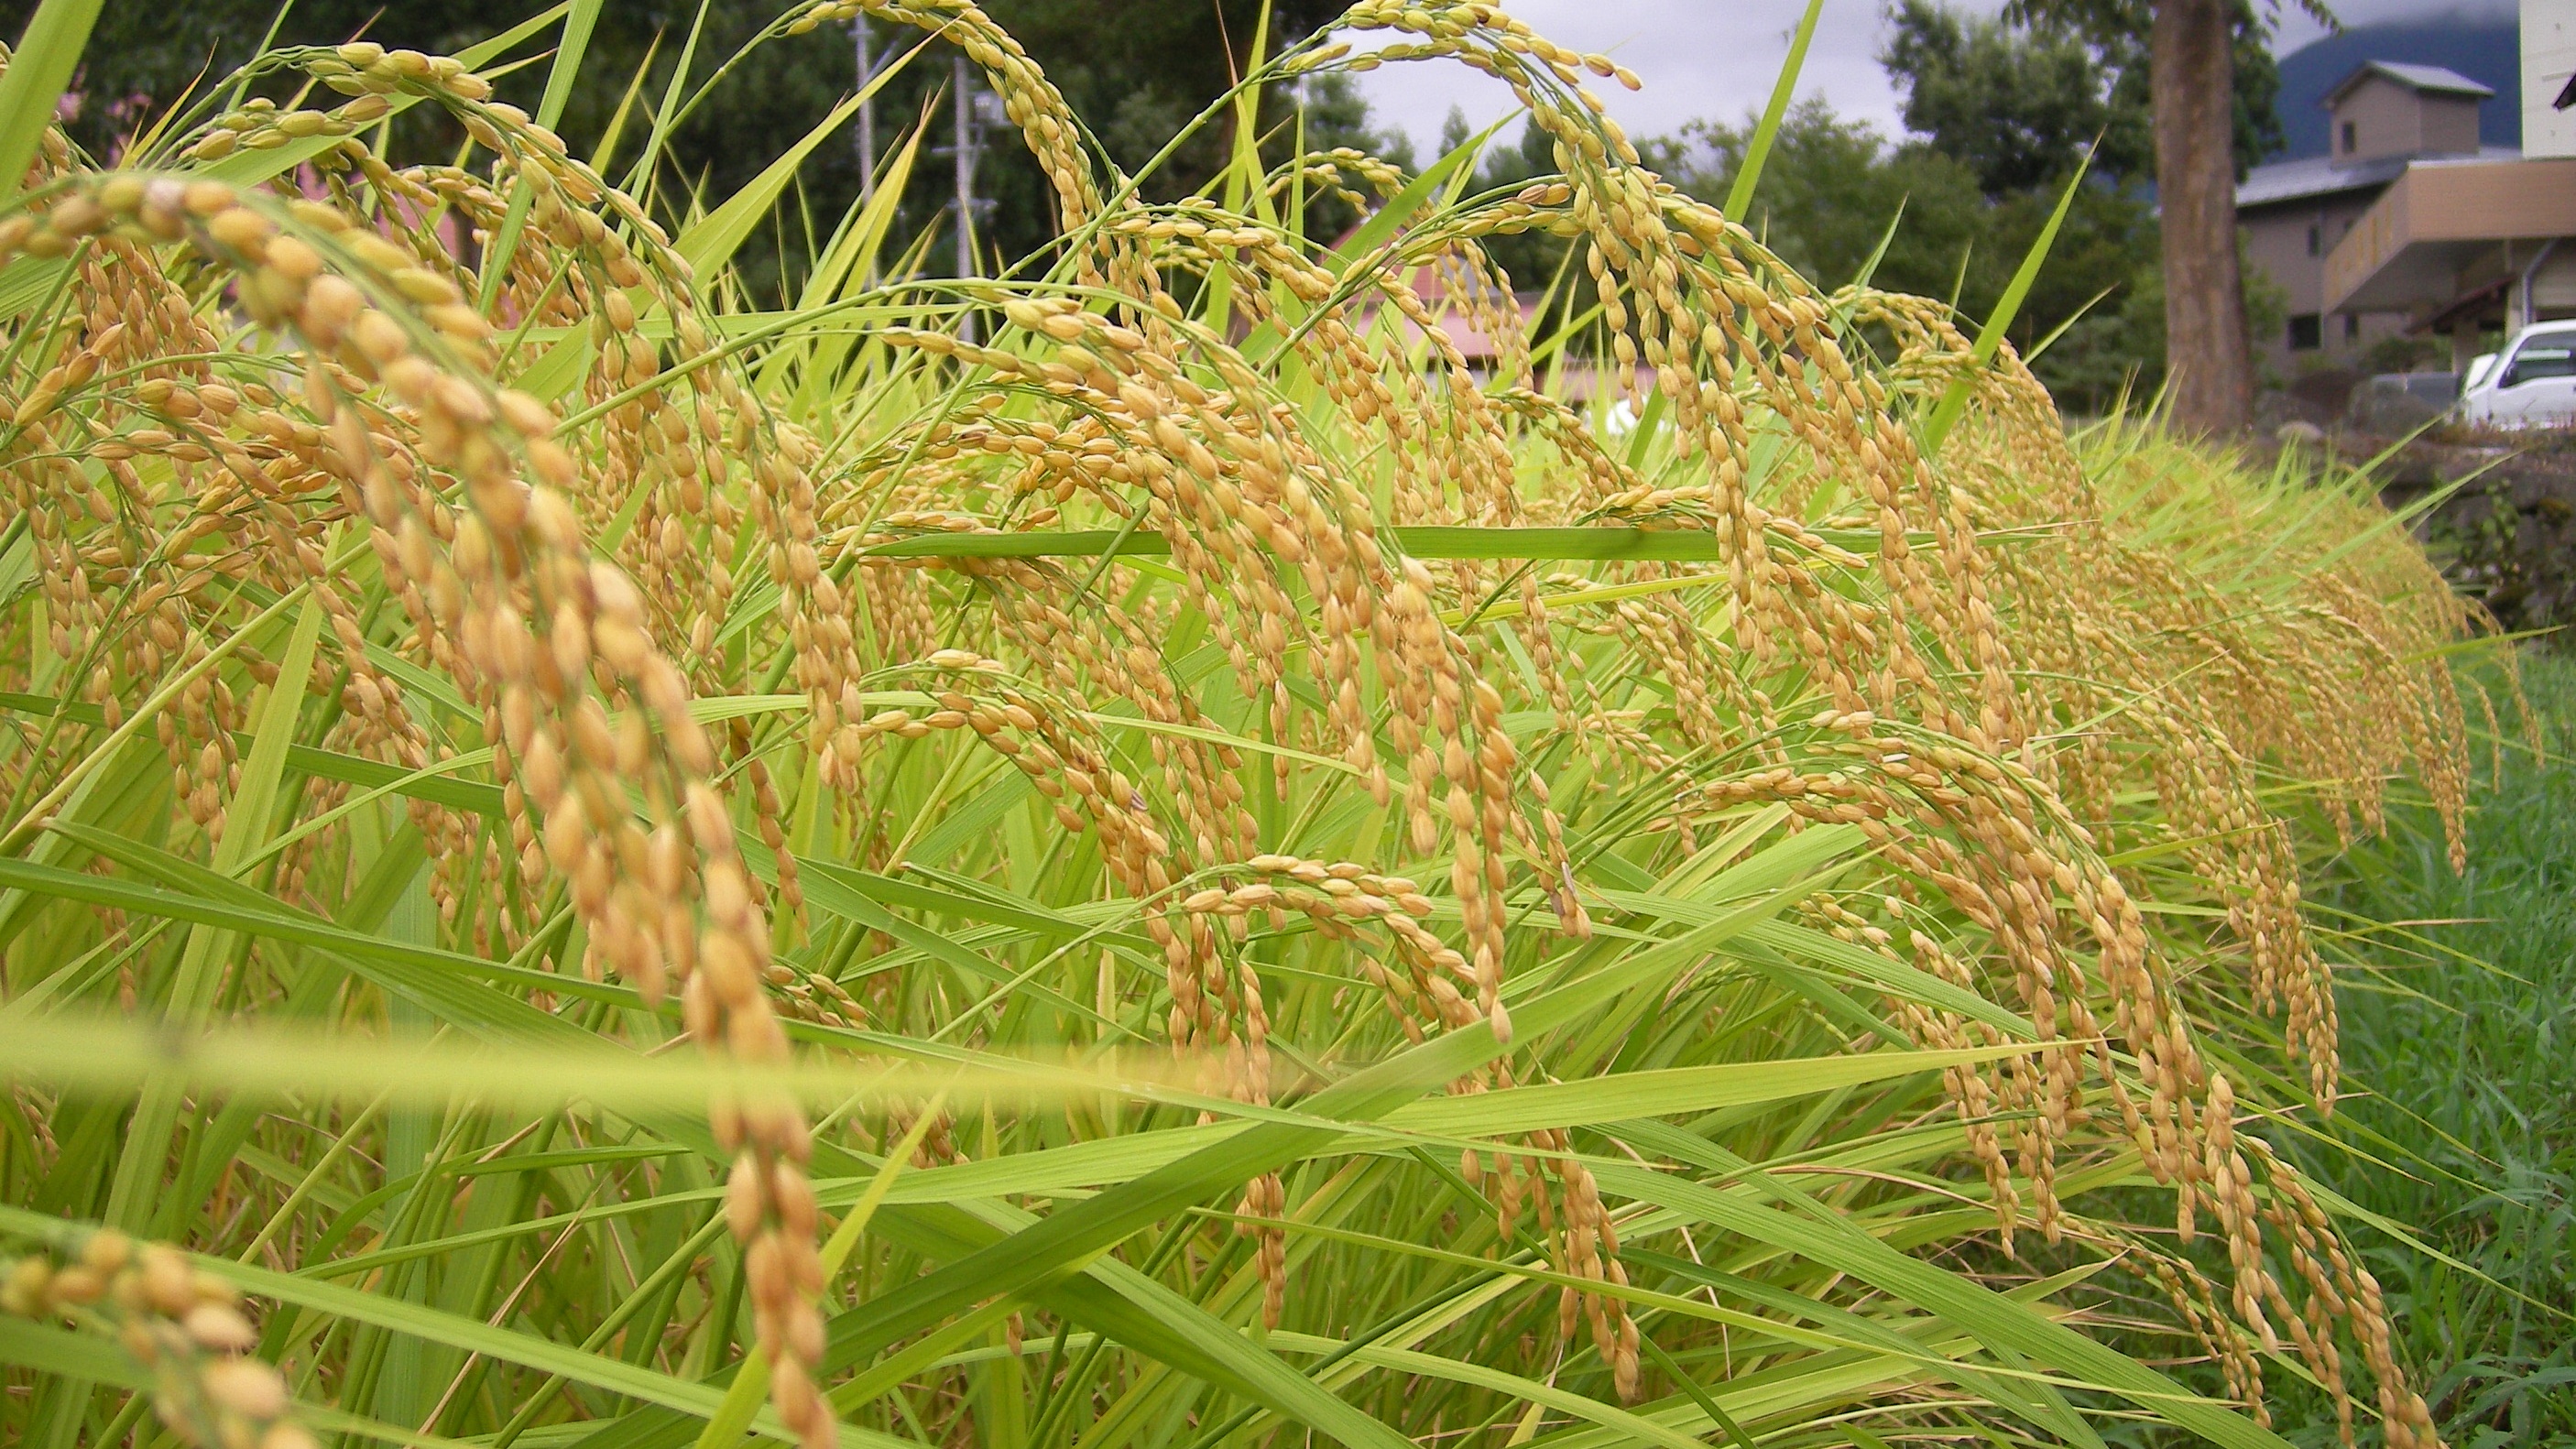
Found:
[[[2002,0],[1965,0],[1996,10]],[[1579,51],[1607,51],[1643,77],[1646,90],[1625,93],[1602,82],[1602,100],[1633,136],[1674,131],[1682,121],[1741,118],[1757,111],[1788,59],[1788,39],[1803,0],[1504,0],[1538,33]],[[2512,0],[2331,0],[2347,26],[2396,18],[2432,18],[2460,10],[2512,10]],[[1824,95],[1834,111],[1899,131],[1899,98],[1878,69],[1886,18],[1883,0],[1824,0],[1816,44],[1808,46],[1798,95]],[[2280,49],[2298,49],[2321,31],[2282,5]],[[1450,106],[1476,126],[1512,111],[1512,95],[1461,64],[1409,62],[1360,77],[1381,124],[1401,126],[1430,149]]]

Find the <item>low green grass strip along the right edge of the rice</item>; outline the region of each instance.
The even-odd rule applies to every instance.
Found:
[[[2509,752],[2470,816],[2468,872],[2401,813],[2324,893],[2349,911],[2344,1060],[2370,1096],[2336,1135],[2393,1168],[2311,1150],[2344,1197],[2442,1261],[2365,1233],[2445,1439],[2576,1439],[2576,661],[2524,674],[2550,759]],[[2372,921],[2372,924],[2362,924]]]

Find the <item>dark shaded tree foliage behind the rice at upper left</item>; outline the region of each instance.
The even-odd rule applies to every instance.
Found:
[[[1077,116],[1097,126],[1100,149],[1121,167],[1141,167],[1208,100],[1226,93],[1242,75],[1265,0],[989,0],[984,5],[1046,67]],[[299,0],[278,23],[278,44],[337,44],[366,36],[386,46],[453,51],[487,39],[544,10],[544,0]],[[693,85],[714,75],[744,41],[788,10],[786,0],[708,0],[703,31],[690,62]],[[1340,0],[1267,0],[1270,46],[1303,36],[1342,13]],[[0,0],[0,36],[18,36],[33,13],[31,0]],[[121,134],[149,124],[193,85],[211,85],[250,59],[278,0],[106,0],[95,39],[82,57],[75,136],[95,154],[111,154]],[[696,0],[618,0],[600,10],[590,54],[564,111],[559,131],[577,154],[590,154],[608,131],[611,116],[641,75],[636,113],[618,147],[618,172],[639,154],[654,106],[683,41],[698,23]],[[925,144],[948,144],[951,106],[945,95],[951,57],[943,41],[930,41],[909,26],[878,26],[878,64],[912,46],[930,49],[878,93],[878,144],[891,144],[904,126],[927,116]],[[546,64],[523,67],[500,82],[507,100],[536,108]],[[850,33],[811,33],[757,46],[734,64],[706,106],[670,136],[657,167],[662,203],[688,211],[690,196],[729,196],[773,157],[793,147],[829,108],[855,88]],[[283,95],[281,95],[283,98]],[[1296,95],[1285,88],[1265,95],[1262,124],[1285,129]],[[1306,142],[1311,147],[1352,144],[1383,149],[1386,136],[1368,126],[1368,106],[1350,77],[1319,77],[1306,95]],[[412,160],[446,157],[459,134],[417,108],[399,136]],[[1278,134],[1273,149],[1285,154]],[[1149,196],[1177,198],[1198,190],[1229,154],[1226,124],[1203,129],[1146,185]],[[860,165],[853,134],[819,147],[781,203],[765,237],[755,237],[742,265],[742,283],[762,304],[791,286],[811,255],[817,237],[858,198]],[[979,167],[979,193],[994,198],[992,216],[979,219],[987,252],[1020,257],[1054,232],[1051,188],[1028,160],[1018,136],[992,136]],[[945,226],[953,208],[953,180],[943,165],[917,167],[904,198],[896,237]],[[1329,198],[1316,201],[1314,229],[1347,221]],[[951,265],[935,252],[935,265]],[[987,263],[989,265],[989,263]]]

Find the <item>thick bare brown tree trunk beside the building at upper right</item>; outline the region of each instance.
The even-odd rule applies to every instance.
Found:
[[[2164,371],[2174,430],[2254,422],[2236,263],[2236,59],[2228,0],[2156,0],[2156,198],[2164,208]]]

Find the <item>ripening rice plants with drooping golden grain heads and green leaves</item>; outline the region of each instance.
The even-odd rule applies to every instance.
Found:
[[[2069,440],[1494,5],[1260,57],[1170,206],[966,0],[760,44],[860,10],[1046,255],[914,275],[894,183],[755,304],[796,154],[492,98],[582,5],[116,165],[80,5],[10,59],[10,1441],[2259,1446],[2303,1380],[2437,1444],[2269,1145],[2303,852],[2398,775],[2458,842],[2509,690],[2365,481]],[[1265,160],[1399,62],[1561,175]]]

